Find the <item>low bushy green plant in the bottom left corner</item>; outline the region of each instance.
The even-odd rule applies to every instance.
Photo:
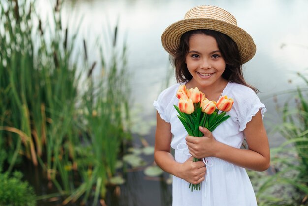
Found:
[[[35,206],[35,193],[28,182],[21,181],[22,173],[0,173],[0,206]]]

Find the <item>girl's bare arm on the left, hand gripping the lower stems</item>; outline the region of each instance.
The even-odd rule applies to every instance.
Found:
[[[193,162],[192,157],[184,163],[176,162],[170,154],[171,139],[172,133],[170,124],[162,120],[157,112],[154,152],[155,162],[165,172],[184,179],[189,183],[198,184],[202,182],[206,171],[203,162]]]

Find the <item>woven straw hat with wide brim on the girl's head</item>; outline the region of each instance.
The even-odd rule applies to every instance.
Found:
[[[256,45],[252,37],[237,26],[232,14],[216,6],[197,6],[190,9],[183,20],[171,24],[163,32],[162,46],[174,56],[182,34],[196,29],[215,30],[231,37],[238,46],[243,64],[256,53]]]

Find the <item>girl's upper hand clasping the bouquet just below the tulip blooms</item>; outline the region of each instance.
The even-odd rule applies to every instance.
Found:
[[[198,159],[210,156],[214,157],[218,141],[215,140],[207,128],[199,127],[199,130],[204,134],[203,137],[186,137],[189,153]]]

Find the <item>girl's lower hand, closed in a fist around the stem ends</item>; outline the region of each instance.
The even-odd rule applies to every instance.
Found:
[[[206,167],[202,161],[193,162],[193,157],[181,164],[178,177],[191,184],[198,184],[204,180]]]

